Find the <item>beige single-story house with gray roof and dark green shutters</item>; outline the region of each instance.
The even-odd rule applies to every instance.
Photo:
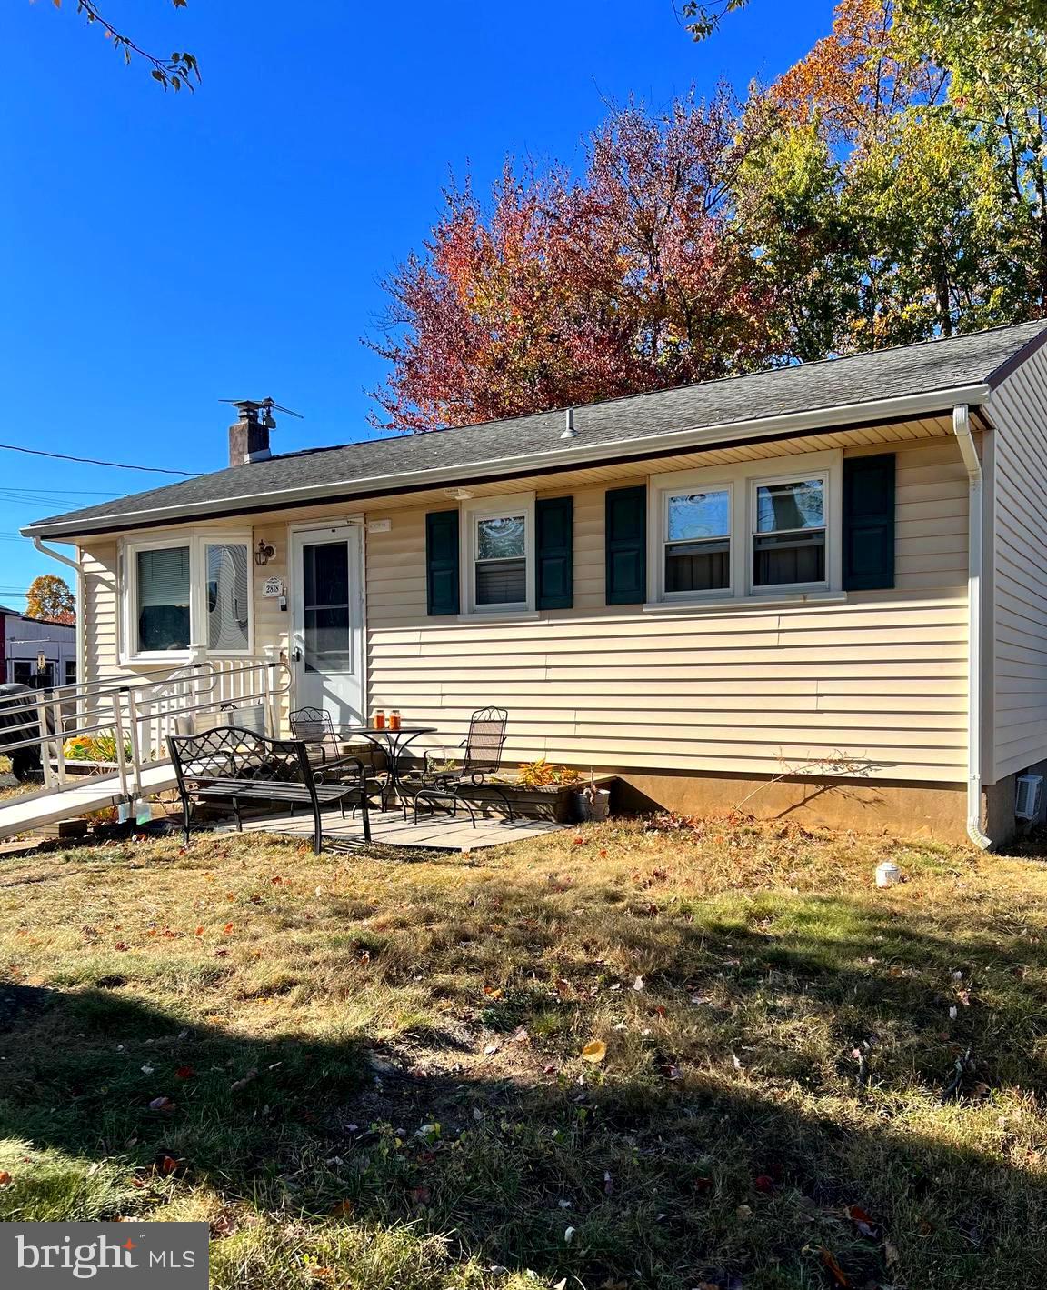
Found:
[[[76,548],[86,681],[279,654],[285,708],[498,704],[637,805],[988,845],[1047,764],[1044,341],[288,453],[245,402],[227,470],[23,531]]]

